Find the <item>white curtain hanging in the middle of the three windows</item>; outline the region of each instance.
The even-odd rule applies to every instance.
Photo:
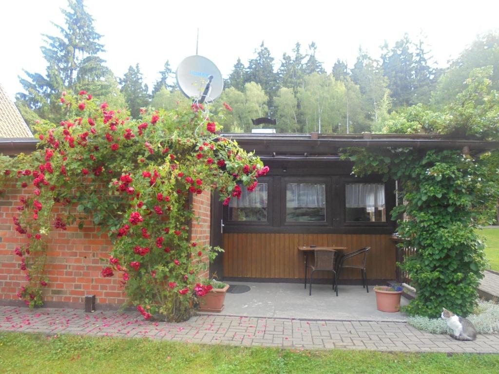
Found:
[[[326,185],[323,183],[286,184],[288,208],[323,208],[326,205]]]

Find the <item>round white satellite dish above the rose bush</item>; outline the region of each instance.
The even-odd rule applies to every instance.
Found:
[[[214,101],[222,94],[224,80],[208,58],[194,55],[184,58],[177,68],[177,84],[184,95],[200,103]]]

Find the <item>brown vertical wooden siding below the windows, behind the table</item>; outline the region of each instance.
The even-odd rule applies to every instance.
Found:
[[[368,279],[395,279],[395,244],[387,234],[226,233],[223,241],[226,277],[303,279],[303,255],[297,247],[315,244],[346,247],[345,253],[369,246]],[[353,260],[360,263],[360,258]],[[361,279],[361,274],[345,269],[341,278]]]

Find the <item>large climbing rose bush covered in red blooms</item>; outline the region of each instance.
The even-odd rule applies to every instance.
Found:
[[[189,239],[197,219],[190,199],[216,189],[227,205],[242,188],[253,190],[268,167],[217,135],[218,115],[202,104],[141,110],[132,120],[85,91],[64,93],[60,102],[66,118],[37,125],[37,151],[0,160],[0,183],[13,180],[26,192],[13,220],[29,240],[15,248],[26,276],[18,296],[30,307],[42,304],[47,235],[91,219],[113,242],[101,276],[118,277],[145,319],[188,319],[196,297],[209,291],[199,289],[202,258],[221,250]],[[64,213],[53,214],[55,205]]]

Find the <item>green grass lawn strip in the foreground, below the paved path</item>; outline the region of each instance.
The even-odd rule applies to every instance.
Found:
[[[299,351],[0,333],[0,373],[498,373],[499,355]]]

